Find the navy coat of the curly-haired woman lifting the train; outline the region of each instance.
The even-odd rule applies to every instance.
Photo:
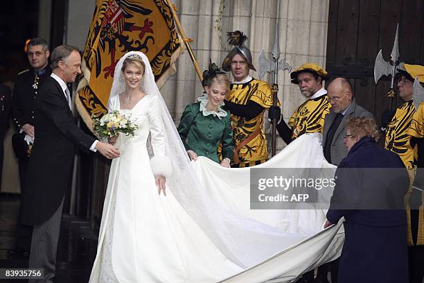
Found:
[[[342,216],[346,220],[338,282],[408,282],[403,209],[408,187],[400,157],[378,147],[370,137],[357,141],[342,160],[327,212],[331,223]],[[342,203],[345,207],[339,206]],[[373,209],[378,207],[387,209]],[[398,209],[389,209],[393,207]]]

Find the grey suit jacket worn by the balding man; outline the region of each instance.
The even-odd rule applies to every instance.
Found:
[[[324,119],[324,130],[322,133],[322,146],[326,144],[328,130],[330,130],[331,124],[335,120],[337,113],[333,111],[333,108],[330,108],[330,112],[326,114]],[[330,155],[331,155],[331,164],[339,165],[344,157],[347,155],[346,146],[343,144],[343,135],[344,135],[344,123],[348,121],[348,119],[353,117],[366,117],[373,118],[373,114],[368,112],[366,109],[362,108],[360,105],[356,104],[355,98],[351,102],[348,110],[344,114],[342,121],[340,122],[337,130],[334,133],[333,141],[331,144]]]

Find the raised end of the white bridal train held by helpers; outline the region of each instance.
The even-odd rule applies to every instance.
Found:
[[[324,209],[252,210],[250,209],[250,169],[225,169],[211,160],[199,157],[192,162],[204,189],[217,203],[231,212],[278,227],[299,241],[272,257],[220,282],[292,282],[296,277],[339,257],[344,242],[342,221],[322,230]],[[254,168],[322,168],[335,169],[322,154],[319,134],[302,135],[265,164]],[[332,170],[323,171],[330,173]],[[308,176],[305,176],[308,178]],[[332,176],[325,176],[331,178]],[[328,203],[328,200],[324,200]],[[260,248],[260,246],[257,246]]]

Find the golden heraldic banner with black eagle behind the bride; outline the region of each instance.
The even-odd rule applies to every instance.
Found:
[[[82,55],[76,107],[88,128],[91,116],[107,112],[118,60],[128,51],[148,56],[159,87],[175,73],[182,52],[173,15],[165,0],[98,0]]]

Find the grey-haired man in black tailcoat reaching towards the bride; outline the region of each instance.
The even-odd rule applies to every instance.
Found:
[[[97,141],[73,122],[67,83],[81,74],[81,56],[75,46],[61,45],[51,54],[52,74],[35,101],[37,139],[28,164],[28,190],[22,196],[22,222],[34,225],[30,268],[44,268],[41,282],[53,282],[65,192],[71,187],[76,146],[119,156],[111,144]],[[32,281],[32,280],[30,280]],[[38,282],[38,280],[37,280]]]

